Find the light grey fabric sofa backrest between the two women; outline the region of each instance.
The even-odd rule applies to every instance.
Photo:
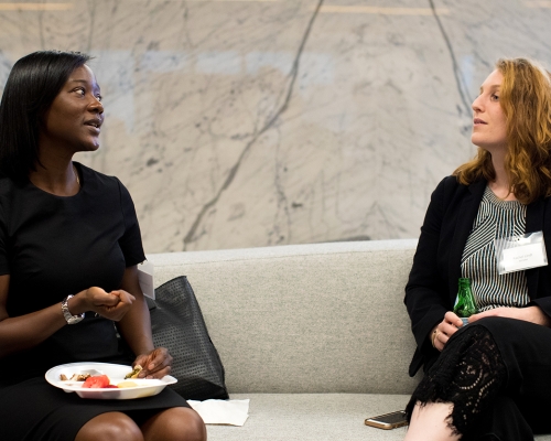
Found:
[[[402,303],[415,240],[148,256],[187,276],[230,392],[409,394]]]

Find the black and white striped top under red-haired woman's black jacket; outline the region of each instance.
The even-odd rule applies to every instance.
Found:
[[[494,239],[523,235],[526,205],[501,201],[486,186],[478,215],[461,259],[462,277],[471,279],[478,309],[525,306],[529,301],[525,271],[497,273]]]

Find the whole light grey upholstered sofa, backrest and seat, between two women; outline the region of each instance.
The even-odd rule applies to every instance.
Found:
[[[420,377],[402,302],[417,240],[148,255],[155,286],[187,276],[244,427],[209,441],[402,440],[366,427],[403,409]],[[551,437],[538,437],[550,441]]]

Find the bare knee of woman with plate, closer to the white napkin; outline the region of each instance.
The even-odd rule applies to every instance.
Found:
[[[185,407],[166,409],[142,427],[145,441],[205,441],[205,423],[199,415]]]

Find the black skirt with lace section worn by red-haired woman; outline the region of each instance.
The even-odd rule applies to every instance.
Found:
[[[456,332],[413,392],[453,402],[447,423],[462,440],[533,440],[551,433],[551,329],[487,318]]]

